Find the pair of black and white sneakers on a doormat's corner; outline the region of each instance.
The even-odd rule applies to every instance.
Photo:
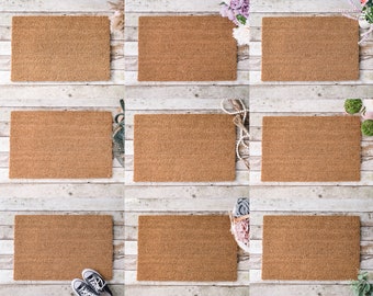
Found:
[[[104,292],[113,296],[105,280],[97,271],[86,269],[81,272],[81,276],[83,281],[75,278],[71,282],[71,287],[77,296],[98,296]]]

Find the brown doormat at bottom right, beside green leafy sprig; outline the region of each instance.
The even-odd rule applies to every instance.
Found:
[[[342,281],[359,269],[359,217],[264,216],[263,280]]]

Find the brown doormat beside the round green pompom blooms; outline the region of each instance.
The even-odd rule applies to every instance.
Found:
[[[360,181],[360,118],[263,117],[262,181]]]

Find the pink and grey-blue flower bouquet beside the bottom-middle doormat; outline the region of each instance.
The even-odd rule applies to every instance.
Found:
[[[250,202],[248,198],[238,198],[233,215],[230,216],[230,232],[234,235],[237,244],[246,252],[249,252],[250,232]]]

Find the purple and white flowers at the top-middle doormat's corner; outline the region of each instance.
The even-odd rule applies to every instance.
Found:
[[[221,15],[228,18],[237,27],[233,31],[233,36],[238,45],[249,44],[249,0],[224,0],[221,2]]]

